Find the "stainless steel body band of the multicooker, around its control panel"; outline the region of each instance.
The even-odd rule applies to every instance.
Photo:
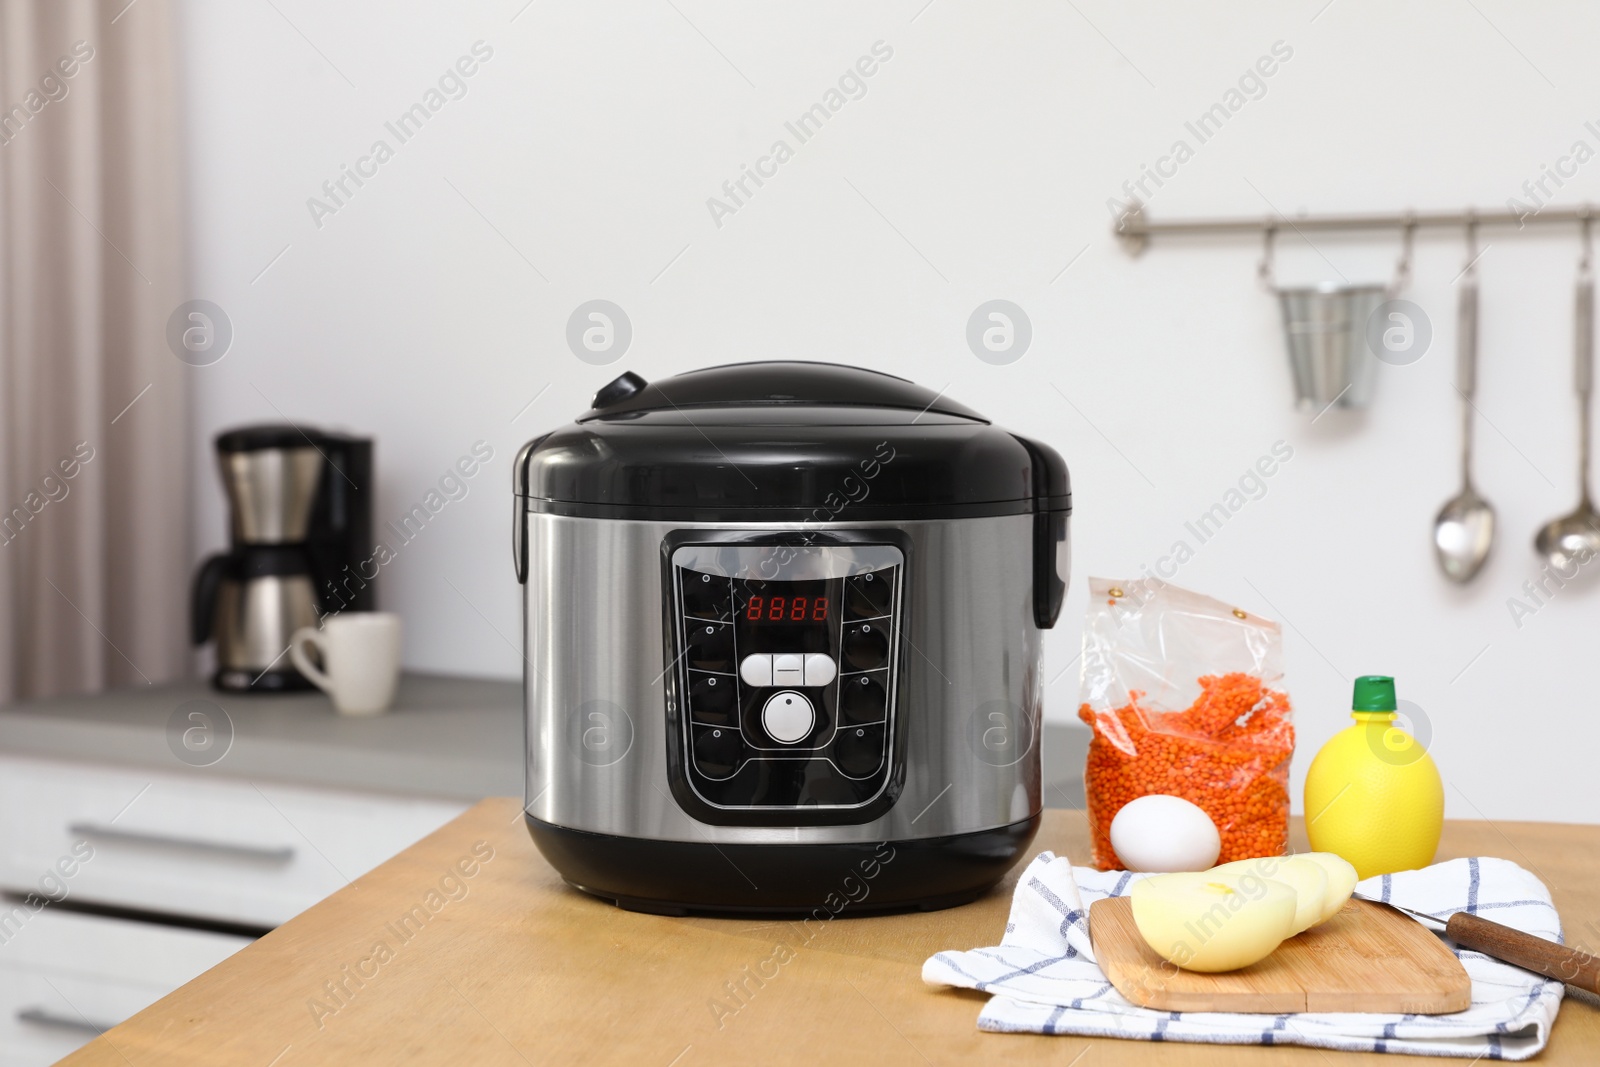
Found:
[[[1034,517],[910,523],[677,523],[530,512],[525,654],[528,814],[574,830],[694,843],[936,838],[1040,811]],[[669,659],[662,545],[706,534],[848,533],[907,544],[893,803],[866,821],[731,825],[674,793],[683,688]],[[1066,541],[1058,569],[1066,576]]]

